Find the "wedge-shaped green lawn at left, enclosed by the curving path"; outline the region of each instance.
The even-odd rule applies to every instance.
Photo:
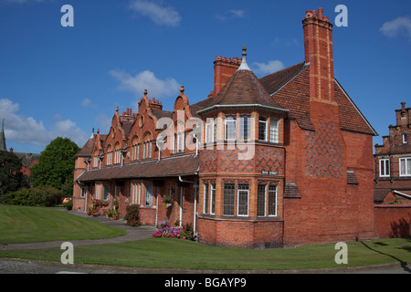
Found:
[[[67,214],[55,208],[0,203],[0,245],[99,239],[124,234],[125,231],[118,228]]]

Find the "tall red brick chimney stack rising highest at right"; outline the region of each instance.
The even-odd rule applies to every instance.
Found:
[[[326,102],[334,99],[332,24],[322,8],[308,10],[302,21],[305,62],[310,63],[310,97]]]

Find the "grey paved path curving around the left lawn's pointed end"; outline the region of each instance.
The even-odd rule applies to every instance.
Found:
[[[68,212],[62,210],[62,212]],[[74,246],[79,245],[105,245],[105,244],[119,244],[129,241],[139,240],[149,238],[157,230],[154,226],[138,226],[132,227],[126,225],[124,220],[109,220],[104,216],[92,217],[82,212],[69,212],[70,214],[76,214],[88,218],[90,220],[100,222],[101,224],[107,224],[112,227],[120,228],[127,231],[127,234],[104,239],[93,239],[93,240],[65,240],[65,241],[52,241],[45,243],[32,243],[32,244],[15,244],[15,245],[0,245],[2,250],[12,250],[12,249],[40,249],[40,248],[51,248],[60,247],[62,243],[69,241]]]

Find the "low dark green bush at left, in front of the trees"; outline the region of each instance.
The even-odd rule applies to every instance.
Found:
[[[3,199],[8,204],[51,207],[61,203],[62,197],[61,191],[46,186],[7,193]]]

